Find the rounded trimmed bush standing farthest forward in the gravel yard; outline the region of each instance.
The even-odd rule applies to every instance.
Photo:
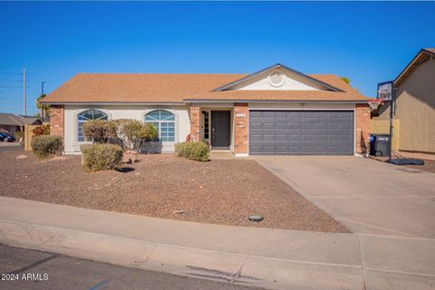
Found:
[[[112,144],[82,145],[82,165],[88,172],[117,169],[122,161],[122,148]]]

